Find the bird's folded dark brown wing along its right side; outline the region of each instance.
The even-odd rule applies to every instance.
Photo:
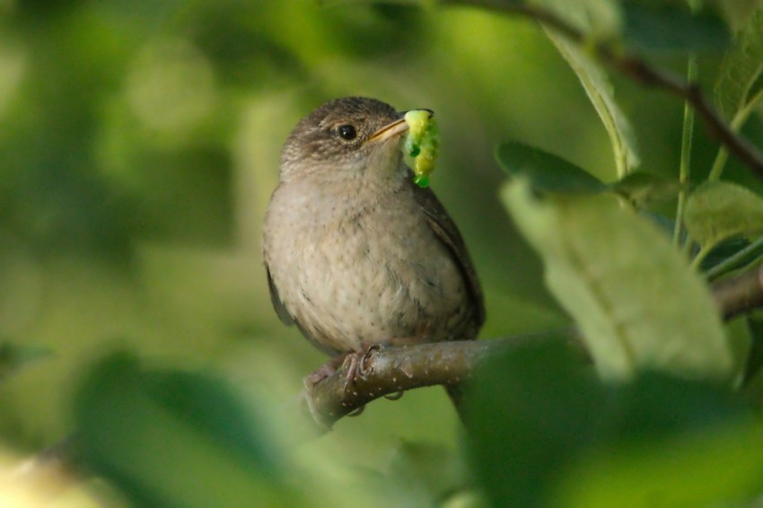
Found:
[[[414,188],[414,197],[421,206],[426,215],[429,227],[432,228],[437,238],[451,251],[453,259],[460,268],[461,274],[466,282],[467,289],[471,295],[475,308],[475,320],[478,326],[485,322],[485,301],[482,296],[482,288],[479,285],[477,271],[469,258],[469,251],[461,238],[456,223],[445,211],[440,200],[434,196],[431,188],[420,188],[411,182]]]

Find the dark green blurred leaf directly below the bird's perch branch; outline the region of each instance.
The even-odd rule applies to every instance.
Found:
[[[595,442],[607,390],[562,341],[488,358],[465,398],[469,460],[493,506],[542,506],[558,471]]]

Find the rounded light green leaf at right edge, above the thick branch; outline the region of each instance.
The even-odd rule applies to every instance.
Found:
[[[706,182],[689,194],[686,229],[702,250],[734,236],[763,232],[763,199],[739,185]]]

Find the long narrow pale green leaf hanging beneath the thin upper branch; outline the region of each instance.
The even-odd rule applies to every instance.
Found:
[[[610,136],[618,177],[624,177],[639,164],[638,148],[633,127],[615,102],[615,92],[609,77],[578,45],[557,35],[553,30],[547,30],[546,34],[573,68],[593,107],[599,113]]]

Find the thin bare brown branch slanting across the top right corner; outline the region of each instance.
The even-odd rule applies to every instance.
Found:
[[[561,33],[567,39],[578,44],[589,42],[583,31],[578,30],[555,13],[534,5],[512,4],[496,0],[441,0],[441,2],[443,4],[473,5],[503,13],[521,15]],[[763,179],[763,157],[753,145],[750,145],[747,140],[732,130],[724,118],[721,118],[715,108],[707,101],[705,94],[695,83],[687,83],[678,74],[649,66],[640,58],[621,55],[606,44],[586,45],[586,48],[588,47],[592,48],[593,54],[602,62],[617,69],[618,72],[627,75],[637,83],[660,88],[691,104],[705,122],[710,135],[724,145],[729,153],[733,153],[741,162],[747,164],[759,178]]]

